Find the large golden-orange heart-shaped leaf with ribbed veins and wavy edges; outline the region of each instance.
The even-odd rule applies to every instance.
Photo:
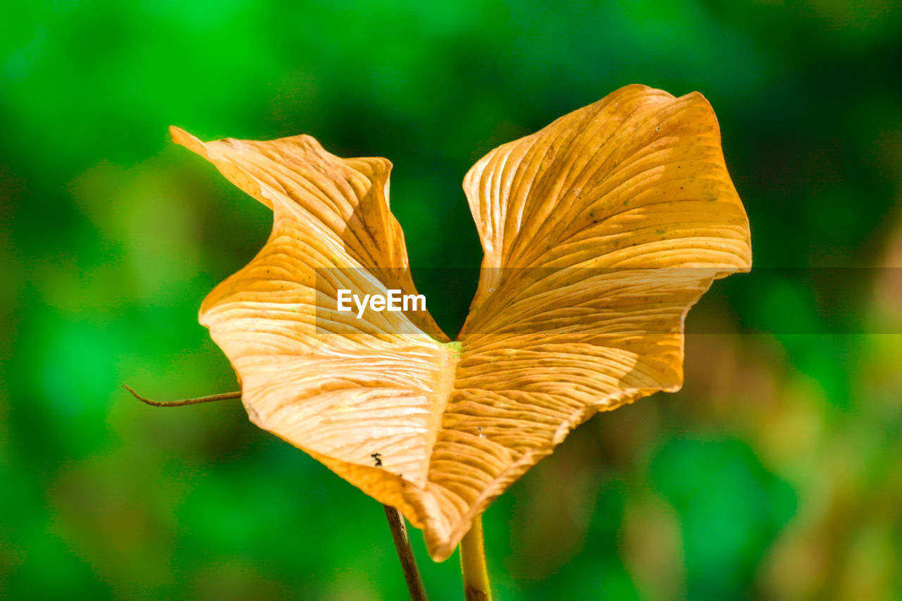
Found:
[[[306,135],[172,134],[273,210],[260,254],[200,310],[251,420],[397,506],[437,560],[576,425],[677,390],[686,312],[750,268],[748,219],[697,93],[621,88],[474,165],[483,269],[454,343],[424,311],[336,310],[339,289],[416,293],[390,162],[341,159]]]

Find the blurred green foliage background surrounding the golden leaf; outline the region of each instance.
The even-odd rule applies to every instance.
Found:
[[[238,402],[118,388],[236,388],[198,306],[270,226],[168,125],[389,157],[412,264],[474,267],[469,166],[638,82],[713,104],[756,269],[886,269],[715,284],[681,393],[594,418],[489,508],[498,599],[902,598],[895,0],[60,0],[0,9],[0,49],[0,596],[406,595],[382,508]],[[861,333],[793,333],[835,299]]]

